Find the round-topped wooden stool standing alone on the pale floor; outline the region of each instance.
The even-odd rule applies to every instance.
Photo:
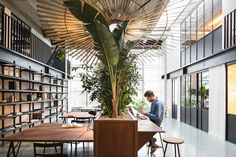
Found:
[[[176,147],[178,148],[178,156],[180,157],[180,151],[179,151],[179,144],[183,144],[184,140],[181,138],[176,138],[176,137],[165,137],[163,138],[163,141],[166,143],[166,147],[165,147],[165,151],[164,151],[164,155],[163,157],[165,157],[166,155],[166,150],[167,150],[167,146],[168,144],[173,144],[175,147],[175,157],[176,156]]]

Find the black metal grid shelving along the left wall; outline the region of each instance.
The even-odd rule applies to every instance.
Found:
[[[16,131],[21,131],[23,128],[27,127],[33,127],[35,124],[43,123],[45,121],[48,122],[54,122],[58,121],[59,116],[59,110],[60,108],[68,108],[68,84],[67,80],[64,78],[58,78],[57,76],[53,76],[49,73],[44,73],[42,71],[35,71],[29,68],[23,68],[19,65],[16,65],[13,63],[3,63],[0,62],[0,66],[2,67],[2,71],[0,73],[0,81],[2,82],[2,86],[0,87],[0,96],[2,97],[2,100],[6,100],[5,95],[6,93],[9,95],[12,95],[14,97],[14,102],[0,102],[0,106],[2,108],[2,112],[0,113],[0,121],[2,122],[0,126],[0,135],[1,137],[4,137],[6,134],[9,133],[15,133]],[[5,68],[4,67],[11,67],[13,69],[13,75],[6,75],[5,74]],[[19,71],[18,76],[16,76],[16,71]],[[28,76],[28,79],[26,77],[23,78],[23,72],[26,72]],[[35,76],[38,76],[40,80],[36,80]],[[46,79],[49,81],[45,81]],[[14,81],[16,84],[19,83],[18,89],[9,89],[6,87],[7,80]],[[55,83],[54,83],[55,82]],[[28,83],[28,89],[23,89],[22,84]],[[59,84],[60,83],[60,84]],[[26,84],[27,85],[27,84]],[[35,85],[42,86],[44,88],[42,89],[49,89],[47,91],[40,91],[35,90]],[[56,89],[53,91],[52,89]],[[23,94],[29,94],[30,97],[34,94],[47,94],[46,98],[44,100],[43,96],[41,96],[42,100],[22,100]],[[19,100],[15,101],[16,95],[19,95]],[[52,98],[52,95],[55,95],[55,98]],[[60,97],[60,95],[63,95],[63,97]],[[45,106],[45,104],[48,103],[48,105]],[[28,104],[28,111],[22,110],[22,105]],[[40,108],[35,108],[36,104],[40,104]],[[55,105],[56,104],[56,105]],[[5,113],[6,107],[12,107],[12,113]],[[18,108],[18,111],[16,110],[16,107]],[[48,112],[49,111],[49,112]],[[46,113],[47,115],[42,116],[41,119],[33,119],[33,114],[35,113]],[[28,121],[23,121],[23,116],[29,116]],[[19,119],[17,119],[19,118]],[[56,118],[55,120],[53,120]],[[12,124],[5,125],[7,119],[12,119]],[[17,120],[16,120],[17,119]]]

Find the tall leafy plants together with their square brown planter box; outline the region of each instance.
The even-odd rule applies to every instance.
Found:
[[[87,73],[81,74],[84,91],[91,92],[90,99],[96,99],[108,117],[95,120],[95,156],[136,157],[137,120],[126,117],[124,111],[136,94],[135,86],[140,78],[137,55],[130,53],[139,40],[125,41],[127,20],[111,22],[82,0],[64,0],[64,5],[84,23],[100,60],[96,66],[83,65]]]

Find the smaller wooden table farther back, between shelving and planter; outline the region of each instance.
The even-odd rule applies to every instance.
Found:
[[[67,118],[88,119],[88,120],[90,120],[91,118],[93,118],[93,116],[91,114],[89,114],[88,112],[69,112],[69,113],[64,113],[59,118],[62,118],[63,123],[66,123]]]

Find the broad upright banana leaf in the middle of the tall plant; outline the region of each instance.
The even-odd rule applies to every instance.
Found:
[[[117,65],[119,62],[119,47],[110,30],[100,21],[94,21],[100,41],[101,52],[106,56],[107,63],[110,66]]]

